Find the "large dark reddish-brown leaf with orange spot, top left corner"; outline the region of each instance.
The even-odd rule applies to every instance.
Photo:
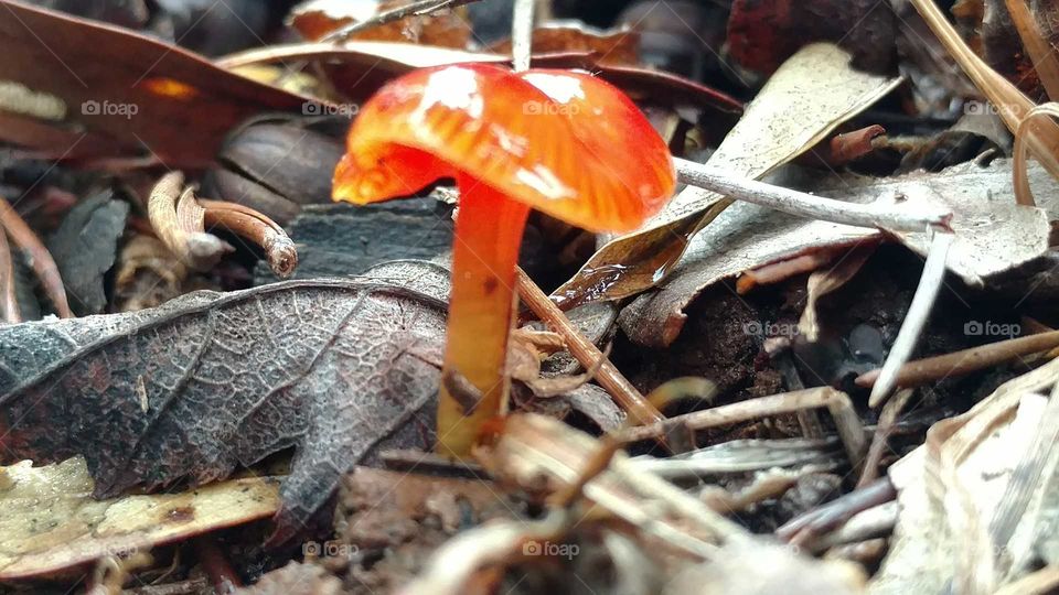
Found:
[[[0,0],[0,80],[63,107],[49,123],[78,126],[120,144],[121,156],[153,153],[169,167],[208,164],[238,122],[308,100],[156,39],[9,0]]]

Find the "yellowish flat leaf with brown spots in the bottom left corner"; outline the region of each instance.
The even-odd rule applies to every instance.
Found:
[[[0,467],[0,581],[53,576],[268,517],[279,508],[278,488],[278,479],[254,477],[183,494],[94,500],[82,458]]]

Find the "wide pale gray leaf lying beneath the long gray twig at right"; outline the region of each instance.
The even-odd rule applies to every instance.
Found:
[[[956,238],[946,266],[967,284],[982,285],[986,279],[1048,253],[1049,214],[1059,213],[1059,192],[1036,163],[1030,164],[1029,180],[1041,208],[1015,204],[1010,162],[999,160],[987,167],[966,163],[937,174],[917,172],[881,180],[843,176],[800,190],[855,203],[900,193],[910,203],[950,208]],[[635,343],[664,347],[680,335],[687,305],[714,283],[770,262],[880,236],[875,229],[807,220],[736,203],[695,236],[670,279],[637,298],[618,322]],[[926,253],[926,234],[899,234],[897,239]]]

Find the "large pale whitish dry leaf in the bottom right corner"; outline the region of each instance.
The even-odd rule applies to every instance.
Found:
[[[1035,558],[1048,555],[1045,543],[1055,541],[1059,510],[1053,445],[1044,477],[1028,486],[1036,491],[1030,510],[999,542],[994,530],[995,512],[1008,504],[1008,485],[1029,479],[1016,465],[1031,454],[1035,434],[1049,430],[1042,426],[1048,399],[1040,393],[1057,378],[1053,360],[1005,382],[971,411],[934,424],[927,444],[890,468],[901,511],[870,593],[937,593],[950,586],[994,593],[1030,570]],[[1008,541],[1012,534],[1018,539]]]

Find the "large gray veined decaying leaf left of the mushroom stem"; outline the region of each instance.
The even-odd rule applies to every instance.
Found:
[[[447,274],[405,262],[0,328],[0,463],[82,454],[108,497],[215,480],[293,446],[288,537],[377,447],[432,441],[416,430],[432,426]]]

